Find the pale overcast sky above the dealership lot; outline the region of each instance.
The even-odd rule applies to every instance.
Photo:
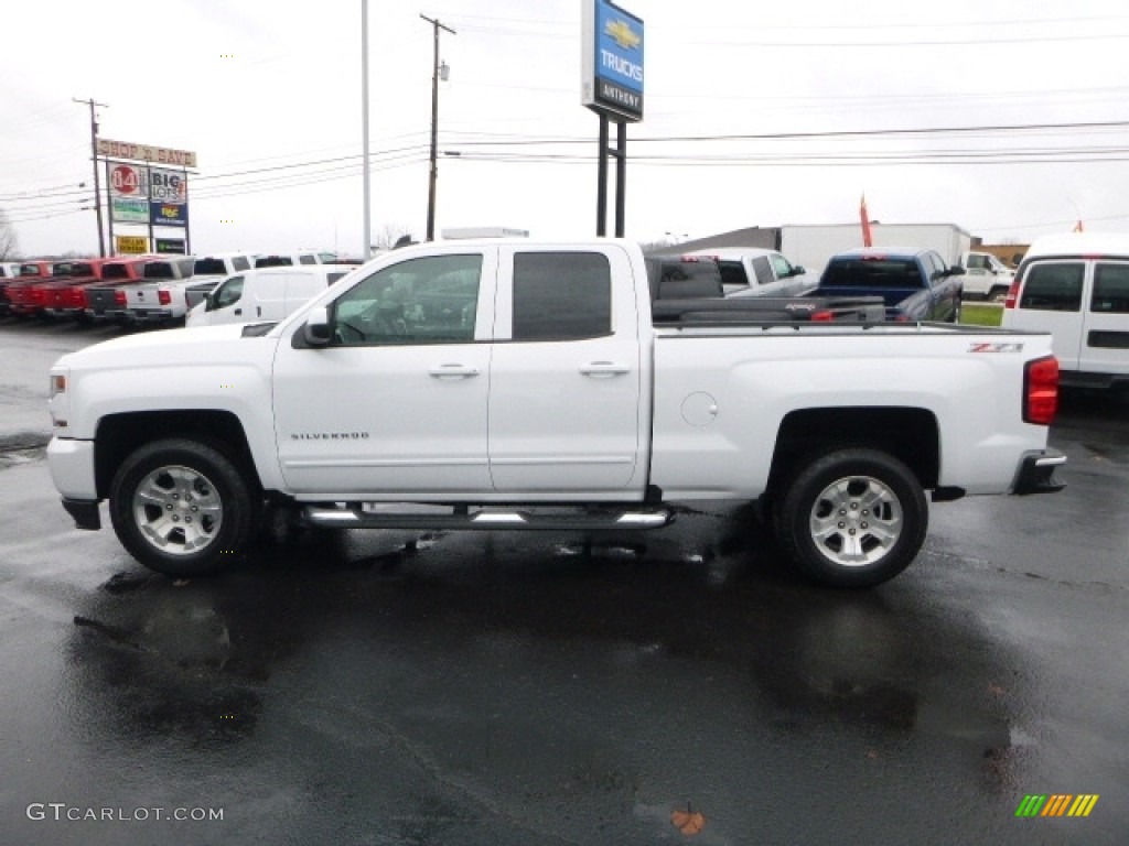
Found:
[[[426,228],[432,29],[420,14],[455,30],[440,46],[437,230],[595,233],[581,2],[369,3],[376,238]],[[1123,0],[621,6],[647,38],[629,237],[851,222],[864,192],[884,223],[956,223],[989,243],[1079,217],[1129,229]],[[89,112],[72,102],[94,98],[108,106],[100,135],[198,155],[194,252],[359,254],[360,19],[361,0],[18,3],[0,50],[0,209],[21,253],[97,250],[94,212],[79,210]],[[920,132],[892,132],[905,130]]]

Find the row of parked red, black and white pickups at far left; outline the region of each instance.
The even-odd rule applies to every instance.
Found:
[[[315,252],[220,253],[5,264],[0,275],[0,315],[180,325],[193,306],[234,274],[256,267],[320,267],[327,258],[334,256]],[[353,264],[333,266],[348,270]]]

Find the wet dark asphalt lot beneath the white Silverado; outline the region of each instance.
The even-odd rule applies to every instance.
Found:
[[[114,333],[0,319],[0,844],[1124,843],[1129,398],[1067,395],[1066,492],[934,505],[869,591],[720,505],[275,525],[176,582],[71,528],[43,459],[46,368]]]

